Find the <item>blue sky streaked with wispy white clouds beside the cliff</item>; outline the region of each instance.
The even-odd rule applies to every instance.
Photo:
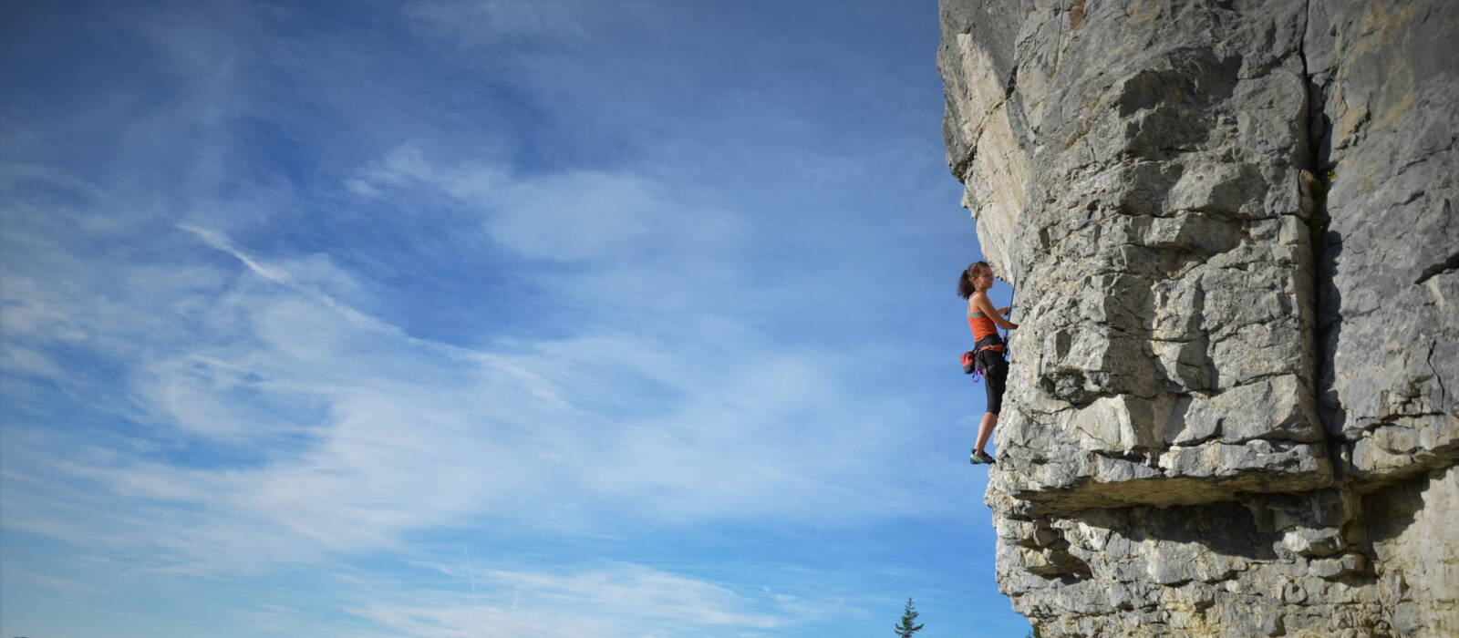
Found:
[[[0,634],[1027,632],[935,3],[3,12]]]

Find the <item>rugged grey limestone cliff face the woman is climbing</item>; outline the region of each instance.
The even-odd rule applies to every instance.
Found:
[[[1459,3],[943,0],[1045,637],[1459,635]],[[1449,390],[1455,387],[1455,390]]]

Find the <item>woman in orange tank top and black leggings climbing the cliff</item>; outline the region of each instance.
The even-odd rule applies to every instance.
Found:
[[[1004,358],[1008,348],[1002,336],[998,336],[998,328],[1005,331],[1018,328],[1017,323],[1004,319],[1011,307],[995,309],[988,300],[988,290],[992,287],[994,269],[985,261],[973,262],[957,278],[957,296],[967,300],[967,326],[973,329],[973,360],[978,371],[988,379],[988,412],[978,425],[978,444],[967,457],[973,465],[994,462],[994,457],[983,452],[983,446],[988,444],[994,425],[998,425],[1004,386],[1008,382],[1008,360]]]

